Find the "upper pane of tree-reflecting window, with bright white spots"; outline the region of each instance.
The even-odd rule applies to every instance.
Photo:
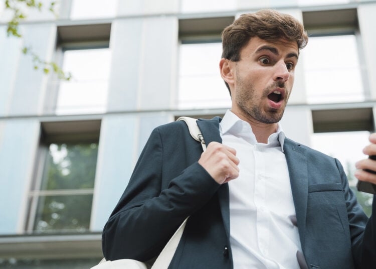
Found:
[[[98,144],[51,144],[41,190],[94,187]]]

